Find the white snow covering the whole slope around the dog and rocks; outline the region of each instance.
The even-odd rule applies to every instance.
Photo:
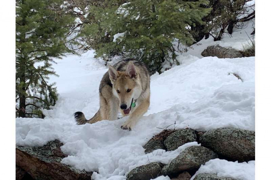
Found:
[[[233,35],[219,42],[213,42],[211,37],[202,40],[199,42],[202,45],[194,45],[177,57],[181,65],[152,75],[151,105],[132,131],[120,128],[128,117],[77,126],[74,112],[82,111],[89,119],[98,111],[98,87],[108,65],[95,59],[93,50],[81,56],[56,59],[58,64],[53,67],[60,76],[53,76],[50,81],[57,83],[59,100],[51,110],[43,110],[45,119],[16,118],[16,145],[42,146],[58,139],[64,143],[61,150],[68,155],[62,163],[99,172],[92,175],[96,180],[125,180],[127,173],[137,166],[154,161],[169,163],[185,148],[200,146],[192,142],[175,151],[157,149],[145,154],[142,146],[162,131],[160,128],[174,122],[177,129],[189,127],[207,131],[237,127],[255,130],[255,58],[219,59],[200,55],[209,45],[240,47],[246,41],[243,33],[234,32]],[[254,177],[254,162],[214,159],[201,166],[197,173],[203,172],[250,180]]]

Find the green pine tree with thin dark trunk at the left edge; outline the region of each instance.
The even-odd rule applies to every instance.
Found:
[[[16,109],[19,117],[42,117],[57,100],[55,84],[49,84],[53,58],[71,52],[65,46],[68,24],[61,0],[16,0]]]

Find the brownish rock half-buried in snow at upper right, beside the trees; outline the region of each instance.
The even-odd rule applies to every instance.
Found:
[[[209,46],[207,49],[205,49],[201,56],[207,57],[207,56],[216,56],[218,58],[236,58],[236,57],[243,57],[243,54],[231,47],[221,47],[219,45],[216,46]]]

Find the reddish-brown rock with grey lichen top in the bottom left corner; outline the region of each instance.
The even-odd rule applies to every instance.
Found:
[[[61,152],[62,145],[60,141],[54,140],[42,147],[17,146],[16,166],[25,170],[33,179],[91,179],[92,172],[61,164],[61,159],[66,157]]]

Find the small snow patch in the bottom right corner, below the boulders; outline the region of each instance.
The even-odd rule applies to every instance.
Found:
[[[255,179],[255,161],[230,162],[223,159],[212,159],[201,165],[200,169],[192,176],[191,180],[198,174],[216,174],[220,178],[234,178],[236,180]]]

